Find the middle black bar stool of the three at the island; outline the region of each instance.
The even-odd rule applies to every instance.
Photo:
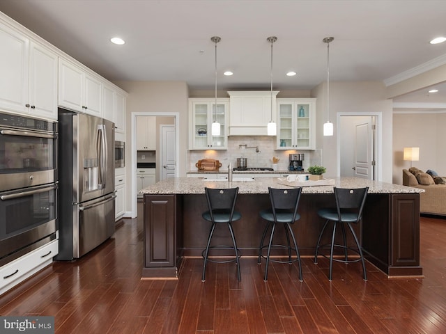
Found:
[[[300,214],[298,214],[298,205],[300,199],[300,193],[302,192],[302,188],[293,188],[293,189],[273,189],[268,187],[268,192],[270,193],[271,207],[270,209],[265,209],[260,212],[260,216],[268,221],[265,229],[263,230],[262,239],[260,241],[259,246],[259,257],[257,259],[257,263],[261,263],[261,257],[266,258],[266,267],[265,267],[265,281],[268,280],[268,264],[270,261],[278,262],[278,263],[288,263],[293,264],[293,262],[298,261],[299,264],[299,280],[303,281],[302,278],[302,265],[300,264],[300,254],[298,244],[295,241],[293,230],[291,229],[291,224],[300,219]],[[284,225],[286,241],[287,245],[272,245],[272,237],[274,237],[274,232],[277,224]],[[264,245],[266,234],[268,230],[270,230],[270,241],[268,245]],[[293,239],[294,248],[291,247],[290,244],[290,234]],[[280,248],[288,248],[288,260],[273,260],[270,258],[271,246],[280,247]],[[262,255],[263,248],[268,248],[266,253],[266,257]],[[291,250],[294,250],[297,258],[293,260],[291,258]]]

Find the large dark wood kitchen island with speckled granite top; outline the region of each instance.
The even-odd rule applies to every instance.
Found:
[[[333,178],[334,186],[369,186],[361,224],[355,232],[367,260],[387,276],[422,276],[420,266],[420,192],[408,186],[363,180]],[[257,254],[265,222],[259,211],[270,206],[268,186],[289,189],[283,179],[259,177],[254,181],[206,181],[195,177],[163,180],[141,190],[144,194],[143,278],[177,278],[184,256],[201,256],[206,246],[209,224],[201,218],[209,188],[239,187],[236,209],[242,218],[233,224],[238,248],[243,256]],[[335,207],[333,185],[304,186],[293,225],[301,256],[314,256],[322,218],[321,207]],[[328,244],[329,236],[322,244]],[[217,244],[228,244],[226,233],[215,234]],[[279,240],[280,241],[280,240]],[[325,242],[327,241],[327,242]],[[348,240],[351,244],[352,240]],[[256,261],[253,258],[253,261]]]

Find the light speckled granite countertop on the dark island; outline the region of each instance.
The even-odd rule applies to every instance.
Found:
[[[364,180],[357,177],[327,177],[334,180],[339,188],[362,188],[369,186],[369,193],[422,193],[424,189],[401,186],[386,182]],[[282,179],[283,180],[283,179]],[[278,177],[259,177],[254,181],[203,180],[200,177],[173,177],[157,182],[145,189],[142,194],[197,194],[204,193],[204,188],[233,188],[238,186],[238,193],[268,193],[268,186],[279,189],[290,189],[290,186],[278,183]],[[333,193],[330,186],[304,186],[302,193]]]

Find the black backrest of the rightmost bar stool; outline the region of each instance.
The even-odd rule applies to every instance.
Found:
[[[356,222],[360,221],[362,216],[362,209],[364,209],[365,199],[367,198],[367,191],[369,187],[365,188],[337,188],[334,187],[334,196],[336,198],[337,212],[339,221],[341,220],[341,210],[351,209],[357,214]]]

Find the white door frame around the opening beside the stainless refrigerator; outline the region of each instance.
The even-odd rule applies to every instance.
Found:
[[[178,112],[132,112],[132,148],[131,154],[131,171],[130,171],[130,184],[131,184],[131,193],[130,198],[132,199],[132,218],[137,216],[137,116],[160,116],[160,117],[173,117],[174,118],[174,127],[175,127],[175,145],[176,145],[176,161],[179,161],[179,150],[180,147],[180,113]],[[178,168],[175,170],[175,176],[178,177]]]

